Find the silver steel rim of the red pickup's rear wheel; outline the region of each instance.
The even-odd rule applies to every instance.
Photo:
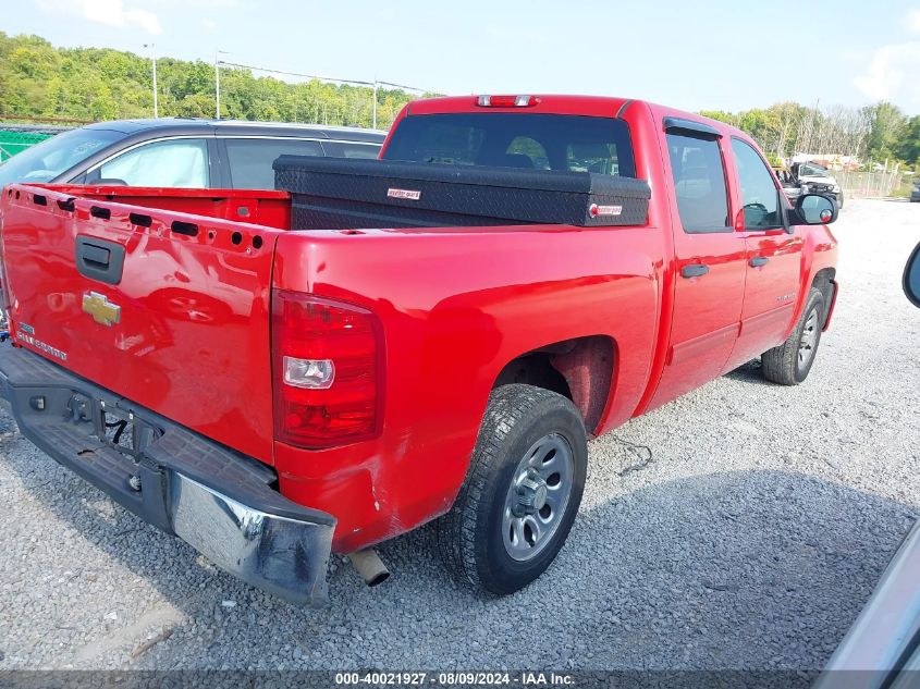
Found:
[[[512,559],[539,555],[562,524],[575,475],[575,457],[559,433],[544,435],[515,467],[502,512],[502,542]]]

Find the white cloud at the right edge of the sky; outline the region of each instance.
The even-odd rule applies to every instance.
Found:
[[[910,110],[920,108],[920,42],[892,44],[878,48],[866,71],[852,83],[874,100],[891,100]]]

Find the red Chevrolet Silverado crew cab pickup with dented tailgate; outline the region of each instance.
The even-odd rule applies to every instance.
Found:
[[[286,192],[10,185],[0,390],[21,431],[290,600],[326,596],[331,552],[439,517],[447,567],[501,594],[565,541],[587,439],[758,356],[770,381],[808,376],[836,206],[792,207],[740,131],[637,100],[442,98],[407,106],[381,158],[481,168],[506,199],[613,179],[647,206],[502,224],[458,183],[462,225],[330,230]]]

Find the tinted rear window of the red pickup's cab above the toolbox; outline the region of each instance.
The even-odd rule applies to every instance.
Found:
[[[629,130],[613,118],[444,113],[400,122],[385,160],[636,176]]]

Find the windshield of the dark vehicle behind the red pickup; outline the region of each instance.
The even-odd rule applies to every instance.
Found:
[[[95,128],[52,136],[0,164],[0,187],[13,182],[49,182],[122,137],[122,132]]]

